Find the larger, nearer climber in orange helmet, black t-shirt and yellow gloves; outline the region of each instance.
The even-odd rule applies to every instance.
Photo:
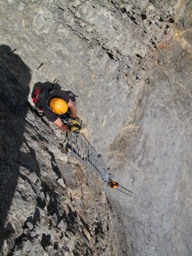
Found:
[[[44,112],[46,118],[64,132],[81,132],[82,128],[77,122],[77,109],[75,95],[71,91],[59,89],[38,89],[32,95],[35,106]],[[70,109],[72,126],[64,124],[60,117]]]

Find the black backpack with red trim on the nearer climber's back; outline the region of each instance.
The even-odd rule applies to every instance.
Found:
[[[52,89],[38,89],[34,93],[33,103],[35,104],[38,110],[43,111],[43,105],[46,105],[46,101],[49,97],[49,93]]]

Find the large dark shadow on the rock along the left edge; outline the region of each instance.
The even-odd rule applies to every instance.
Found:
[[[8,211],[20,176],[20,148],[24,142],[25,118],[28,112],[30,69],[9,46],[0,46],[0,236],[14,233]]]

